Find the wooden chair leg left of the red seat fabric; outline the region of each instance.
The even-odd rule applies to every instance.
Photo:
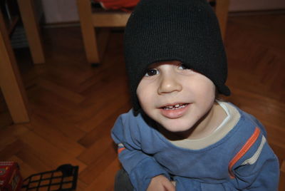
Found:
[[[90,0],[77,0],[78,14],[81,21],[81,32],[88,63],[100,63],[97,39],[92,21]]]

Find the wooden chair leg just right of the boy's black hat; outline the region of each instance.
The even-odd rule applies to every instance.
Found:
[[[229,0],[216,0],[215,8],[217,18],[219,20],[219,27],[221,28],[222,38],[226,35],[227,28],[227,14],[229,12]]]

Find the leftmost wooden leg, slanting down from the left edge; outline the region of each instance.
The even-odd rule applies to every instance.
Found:
[[[26,91],[0,11],[0,87],[14,123],[29,121]]]

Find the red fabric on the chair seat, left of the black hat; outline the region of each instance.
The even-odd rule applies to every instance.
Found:
[[[140,0],[95,0],[100,3],[104,9],[119,9],[130,11]]]

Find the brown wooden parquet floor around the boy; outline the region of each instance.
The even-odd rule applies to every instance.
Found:
[[[12,125],[0,96],[0,160],[19,162],[24,177],[79,165],[77,190],[113,190],[120,165],[110,129],[131,107],[123,33],[111,33],[98,68],[86,62],[79,27],[43,29],[43,44],[43,65],[33,66],[27,49],[16,51],[31,123]],[[285,15],[229,17],[225,46],[232,96],[224,99],[266,125],[269,144],[284,161]]]

